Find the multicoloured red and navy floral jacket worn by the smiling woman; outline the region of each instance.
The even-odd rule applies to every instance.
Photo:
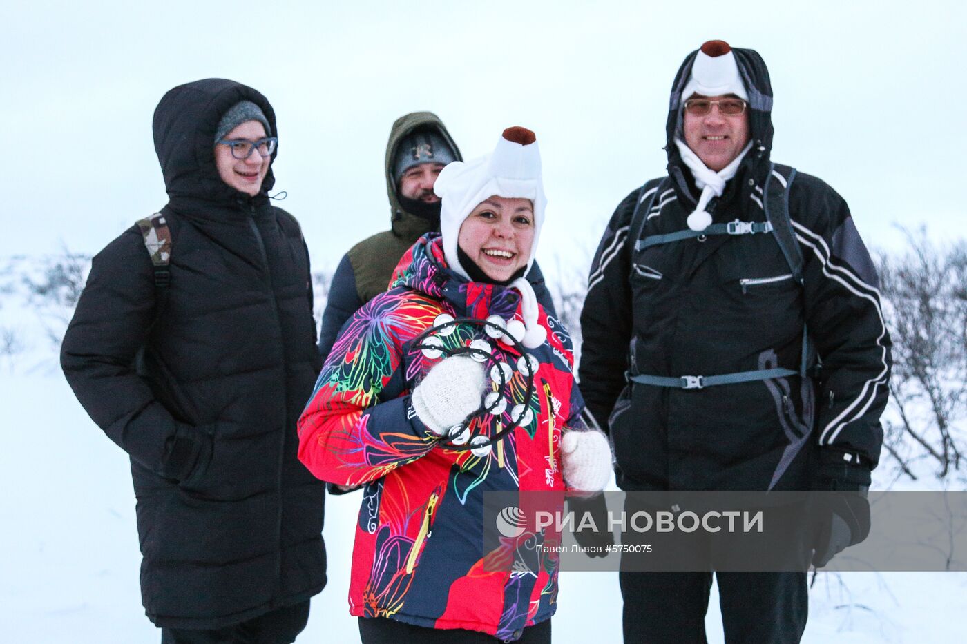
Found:
[[[342,330],[299,421],[299,457],[316,477],[366,483],[350,613],[516,639],[521,629],[549,619],[556,609],[557,555],[542,555],[531,567],[536,571],[491,570],[487,562],[501,553],[484,552],[484,492],[563,493],[561,431],[584,426],[571,338],[542,309],[547,340],[527,356],[472,323],[435,334],[442,354],[414,346],[434,321],[445,319],[441,314],[521,319],[519,293],[456,276],[436,233],[403,255],[391,286]],[[491,390],[500,392],[493,396],[511,399],[474,417],[470,433],[490,436],[513,422],[512,413],[522,423],[489,450],[459,451],[441,445],[426,428],[409,393],[447,350],[472,341],[486,342],[493,356],[483,362]],[[535,366],[532,395],[525,400],[526,374]],[[500,370],[507,378],[504,388],[498,384]],[[527,537],[541,541],[543,535]],[[504,539],[501,547],[517,546]]]

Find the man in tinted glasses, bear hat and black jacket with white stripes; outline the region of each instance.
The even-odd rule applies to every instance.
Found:
[[[878,279],[845,201],[772,165],[771,110],[755,51],[690,53],[672,87],[668,176],[633,190],[601,240],[579,375],[625,490],[859,492],[876,466],[891,366]],[[766,218],[775,193],[784,227]],[[810,556],[821,566],[868,530],[856,499],[792,536],[804,571],[717,573],[726,641],[799,641]],[[704,641],[711,583],[710,571],[622,571],[626,642]]]

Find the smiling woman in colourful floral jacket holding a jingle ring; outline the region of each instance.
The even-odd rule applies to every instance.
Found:
[[[484,492],[601,490],[611,452],[580,420],[571,338],[523,278],[545,206],[534,132],[504,131],[434,190],[441,234],[340,333],[299,456],[366,484],[349,589],[364,644],[549,642],[558,561],[536,544],[555,537],[527,525],[485,551]],[[530,565],[497,565],[524,546]]]

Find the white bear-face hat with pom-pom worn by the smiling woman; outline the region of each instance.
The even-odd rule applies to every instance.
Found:
[[[508,128],[489,155],[473,161],[454,161],[443,168],[433,184],[433,191],[442,200],[440,232],[443,234],[443,252],[447,264],[455,273],[467,279],[470,276],[460,265],[456,253],[463,221],[490,196],[530,199],[534,207],[534,242],[526,269],[530,271],[547,206],[541,180],[541,150],[534,132],[526,128]],[[537,321],[534,289],[526,278],[514,279],[511,286],[520,291],[522,298],[524,334],[517,339],[528,348],[540,346],[546,338],[546,332]],[[515,332],[518,329],[513,322],[508,325],[508,331],[517,336]]]

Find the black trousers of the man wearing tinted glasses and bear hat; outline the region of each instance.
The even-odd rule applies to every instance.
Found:
[[[652,498],[629,494],[625,512],[629,516],[638,511],[656,512],[657,508],[646,505]],[[700,496],[689,498],[689,504],[700,502]],[[703,513],[711,508],[696,506],[692,510]],[[764,512],[766,526],[761,534],[727,530],[623,533],[622,542],[654,546],[649,553],[622,555],[619,580],[625,644],[705,644],[713,574],[725,642],[799,642],[809,604],[806,570],[812,537],[807,507],[797,502],[759,510]]]

